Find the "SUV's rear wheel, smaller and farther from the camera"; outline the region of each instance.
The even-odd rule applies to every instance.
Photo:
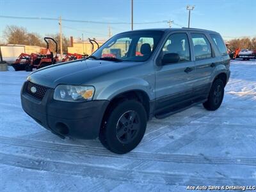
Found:
[[[220,108],[224,97],[224,83],[221,79],[216,79],[212,83],[212,87],[208,96],[208,100],[204,102],[204,108],[209,111],[215,111]]]

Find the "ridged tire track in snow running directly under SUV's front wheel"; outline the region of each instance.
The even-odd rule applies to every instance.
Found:
[[[184,154],[149,154],[144,152],[130,152],[123,156],[113,154],[104,148],[86,147],[81,145],[65,145],[60,143],[47,143],[42,141],[28,141],[18,138],[0,137],[1,145],[51,150],[54,152],[75,153],[87,156],[111,157],[115,159],[131,159],[136,161],[157,161],[166,163],[194,163],[194,164],[241,164],[256,166],[256,157],[205,157]],[[1,162],[0,162],[1,163]]]

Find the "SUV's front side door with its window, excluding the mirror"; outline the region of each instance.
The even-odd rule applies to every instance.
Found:
[[[188,34],[172,33],[159,53],[163,58],[166,53],[177,53],[178,63],[170,63],[156,68],[157,109],[168,108],[191,98],[195,63],[191,60]]]

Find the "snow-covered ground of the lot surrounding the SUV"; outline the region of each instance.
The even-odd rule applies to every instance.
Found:
[[[256,61],[232,61],[220,109],[148,122],[125,155],[61,140],[22,111],[28,72],[0,72],[0,191],[187,191],[256,183]]]

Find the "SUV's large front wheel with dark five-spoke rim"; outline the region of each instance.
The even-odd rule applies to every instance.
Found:
[[[99,140],[111,152],[125,154],[140,143],[146,127],[147,113],[143,105],[136,100],[124,100],[106,116]]]

